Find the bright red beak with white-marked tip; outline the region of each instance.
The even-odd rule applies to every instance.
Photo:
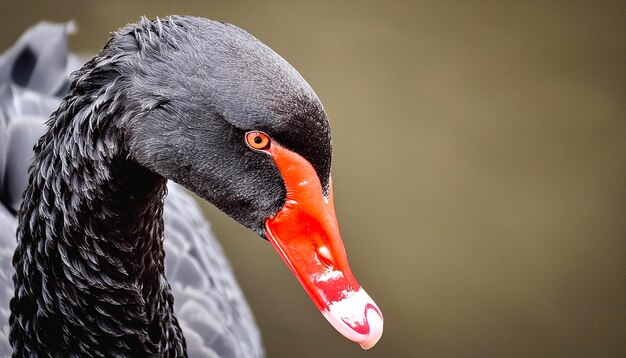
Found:
[[[264,150],[280,170],[287,200],[265,222],[267,237],[330,324],[364,349],[383,333],[383,315],[348,266],[333,204],[313,166],[272,142]]]

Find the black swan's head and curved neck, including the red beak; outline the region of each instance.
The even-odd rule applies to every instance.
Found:
[[[348,267],[330,161],[317,96],[245,31],[173,16],[113,33],[35,146],[13,258],[13,355],[190,353],[165,279],[168,179],[270,241],[329,322],[370,348],[382,314]]]

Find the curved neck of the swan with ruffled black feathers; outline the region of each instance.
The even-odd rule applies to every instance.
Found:
[[[127,159],[98,115],[115,111],[94,112],[90,98],[66,99],[35,148],[13,260],[14,356],[184,356],[163,267],[166,180]]]

